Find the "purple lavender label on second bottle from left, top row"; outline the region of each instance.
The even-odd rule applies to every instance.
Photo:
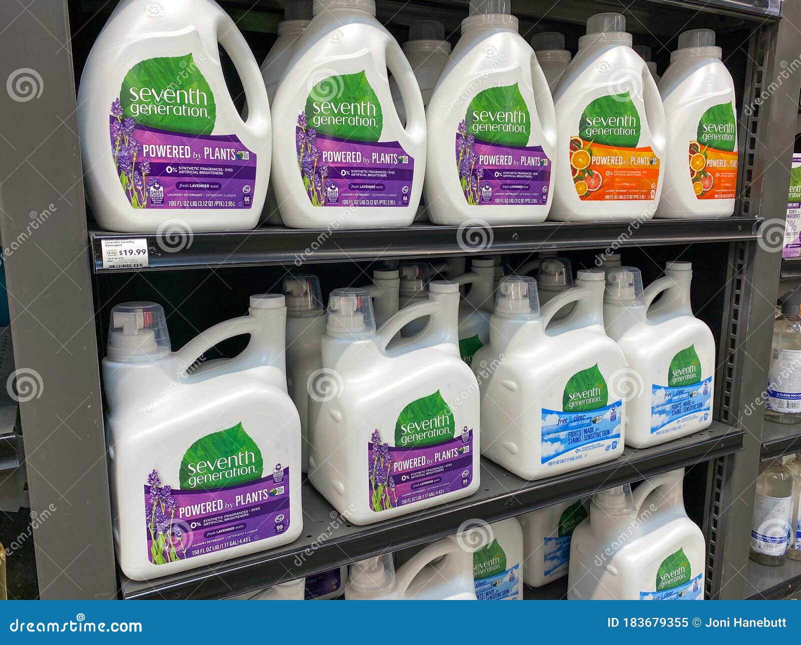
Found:
[[[298,167],[313,206],[409,206],[414,158],[399,142],[358,142],[296,126]]]

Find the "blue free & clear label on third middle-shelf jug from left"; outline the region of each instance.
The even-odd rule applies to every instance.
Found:
[[[621,410],[620,400],[606,407],[581,412],[542,408],[542,463],[557,466],[617,448]]]

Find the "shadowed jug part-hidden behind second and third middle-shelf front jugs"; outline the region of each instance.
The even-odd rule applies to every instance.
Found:
[[[469,273],[456,278],[470,290],[459,304],[459,352],[468,365],[480,347],[489,343],[489,318],[495,302],[495,260],[475,258]]]

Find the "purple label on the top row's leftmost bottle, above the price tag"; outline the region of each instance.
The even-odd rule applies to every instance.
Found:
[[[250,208],[256,153],[234,135],[179,134],[111,115],[111,153],[134,208]]]

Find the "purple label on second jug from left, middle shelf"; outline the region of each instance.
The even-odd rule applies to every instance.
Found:
[[[425,447],[402,448],[368,443],[368,470],[376,453],[388,451],[388,470],[368,479],[373,511],[405,506],[468,487],[473,481],[473,431]],[[382,466],[383,467],[383,466]],[[386,475],[384,477],[384,475]]]

